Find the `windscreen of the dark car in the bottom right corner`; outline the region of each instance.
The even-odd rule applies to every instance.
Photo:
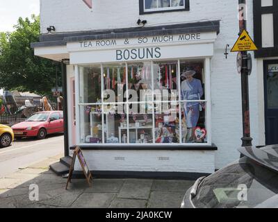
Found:
[[[243,157],[203,180],[192,202],[198,208],[252,208],[277,194],[278,173]]]

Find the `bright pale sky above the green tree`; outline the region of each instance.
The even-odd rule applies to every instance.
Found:
[[[40,14],[40,0],[0,0],[0,32],[13,31],[19,17]]]

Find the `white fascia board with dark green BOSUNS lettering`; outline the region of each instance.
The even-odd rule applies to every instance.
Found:
[[[71,64],[91,64],[211,56],[213,56],[213,42],[206,44],[177,44],[143,48],[134,47],[132,49],[76,51],[70,53],[70,62]]]

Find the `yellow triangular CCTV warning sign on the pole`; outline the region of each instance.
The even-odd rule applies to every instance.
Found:
[[[243,30],[240,37],[238,37],[238,40],[236,41],[236,44],[234,44],[233,49],[231,49],[231,52],[233,51],[256,51],[258,48],[254,44],[252,38],[247,33],[246,30]]]

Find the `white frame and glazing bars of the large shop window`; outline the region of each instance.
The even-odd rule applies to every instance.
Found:
[[[194,60],[194,59],[188,59],[188,58],[180,58],[180,59],[177,59],[177,64],[178,64],[178,77],[180,78],[180,73],[181,73],[181,61],[184,61],[184,60]],[[165,146],[171,146],[171,147],[179,147],[179,146],[182,146],[182,147],[198,147],[198,146],[202,146],[202,147],[210,147],[212,146],[212,141],[211,141],[211,58],[199,58],[199,60],[203,60],[204,62],[204,84],[205,84],[205,88],[204,88],[204,93],[206,95],[205,99],[202,100],[200,99],[199,102],[204,102],[206,103],[206,111],[205,111],[205,117],[206,117],[206,143],[193,143],[193,144],[190,144],[190,143],[182,143],[181,142],[181,134],[180,134],[180,142],[177,143],[177,144],[174,144],[174,143],[171,143],[171,144],[157,144],[155,141],[152,143],[152,144],[144,144],[144,146],[148,146],[148,147],[154,147],[154,148],[157,148],[159,149],[159,146],[161,147],[165,147]],[[167,61],[167,60],[144,60],[144,61],[133,61],[133,62],[152,62],[152,76],[153,76],[153,65],[154,65],[154,62],[163,62],[163,61]],[[118,62],[109,62],[109,64],[117,64]],[[132,62],[124,62],[125,66],[126,66],[126,69],[128,69],[129,65],[131,64]],[[106,63],[101,63],[101,64],[87,64],[88,66],[92,66],[92,65],[100,65],[101,66],[101,92],[104,91],[104,72],[103,72],[103,68],[104,66],[106,65]],[[75,65],[75,79],[76,79],[76,142],[77,144],[79,144],[79,146],[84,146],[84,147],[94,147],[94,146],[112,146],[112,147],[115,147],[117,148],[117,146],[123,146],[123,147],[138,147],[138,149],[140,149],[140,147],[142,147],[142,149],[144,149],[144,146],[142,146],[142,144],[133,144],[133,143],[130,143],[129,141],[129,128],[127,129],[127,141],[128,143],[126,144],[107,144],[107,143],[101,143],[101,144],[88,144],[88,143],[81,143],[81,116],[80,116],[80,110],[82,108],[82,106],[85,106],[85,105],[96,105],[99,103],[80,103],[79,102],[79,92],[80,92],[80,83],[79,83],[79,80],[80,80],[80,72],[79,72],[79,68],[80,67],[85,67],[86,65]],[[127,70],[126,70],[127,71]],[[154,78],[152,78],[153,80]],[[126,75],[126,83],[128,81],[128,75]],[[180,89],[181,85],[180,85],[180,82],[179,82],[179,89]],[[126,89],[128,90],[128,89]],[[153,92],[154,93],[154,92]],[[101,95],[101,109],[103,109],[103,106],[104,105],[107,105],[106,103],[104,103],[103,101],[103,96]],[[154,101],[153,101],[154,102]],[[183,101],[180,100],[180,93],[179,93],[179,101],[177,101],[177,103],[179,103],[179,109],[181,110],[181,103]],[[191,101],[192,102],[192,101]],[[131,102],[131,101],[126,101],[126,102],[123,102],[124,104],[131,104],[131,103],[134,103],[134,102]],[[140,103],[140,102],[139,102]],[[153,110],[153,113],[154,113],[154,110]],[[179,112],[179,115],[181,116],[181,112]],[[102,118],[102,138],[104,138],[104,112],[101,112],[101,118]],[[179,117],[181,118],[181,117]],[[128,118],[127,118],[128,119]],[[154,120],[153,120],[154,122]],[[127,124],[129,124],[129,121],[127,120]],[[180,128],[181,128],[181,121],[180,121]],[[153,129],[154,131],[154,129]],[[180,130],[181,132],[181,130]],[[154,135],[153,135],[154,137]]]

